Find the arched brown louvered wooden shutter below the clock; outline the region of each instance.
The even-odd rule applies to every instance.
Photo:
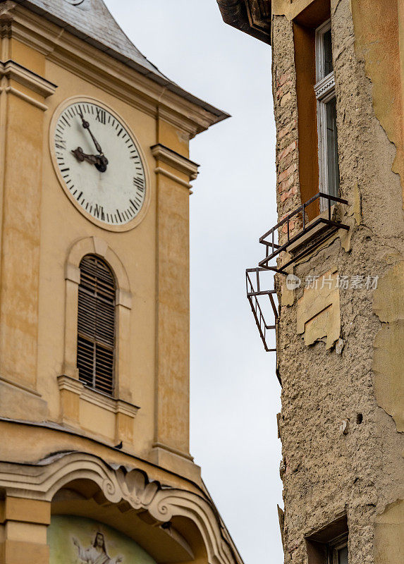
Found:
[[[115,281],[109,266],[95,255],[80,262],[77,366],[83,384],[111,395],[114,391]]]

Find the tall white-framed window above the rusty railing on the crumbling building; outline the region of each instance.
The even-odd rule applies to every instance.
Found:
[[[331,48],[331,20],[316,30],[317,132],[319,138],[319,191],[338,196],[338,140],[336,92]]]

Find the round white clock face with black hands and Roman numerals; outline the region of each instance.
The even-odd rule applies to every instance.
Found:
[[[112,110],[80,99],[65,105],[51,127],[51,152],[68,197],[112,231],[135,226],[145,207],[145,166],[133,135]]]

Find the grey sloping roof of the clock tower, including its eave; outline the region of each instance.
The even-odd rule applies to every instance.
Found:
[[[4,0],[0,0],[0,3]],[[221,121],[228,114],[193,96],[167,78],[154,66],[121,30],[103,0],[14,0],[38,13],[76,37],[97,47],[114,59],[134,68],[171,92],[202,107]]]

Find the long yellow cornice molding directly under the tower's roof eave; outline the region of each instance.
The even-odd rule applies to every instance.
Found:
[[[92,82],[123,102],[154,118],[164,112],[166,121],[190,137],[228,117],[228,114],[209,104],[206,108],[198,106],[192,99],[181,96],[185,91],[180,87],[178,92],[169,90],[166,85],[113,59],[23,6],[15,6],[12,12],[8,12],[7,20],[0,20],[0,33],[5,26],[8,35],[37,49],[49,61]],[[211,107],[212,111],[209,111]]]

